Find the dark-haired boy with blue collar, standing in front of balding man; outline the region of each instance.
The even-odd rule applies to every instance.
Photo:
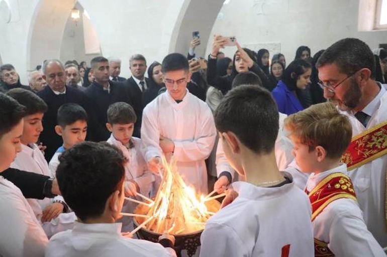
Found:
[[[76,143],[85,140],[87,134],[87,113],[82,106],[75,103],[67,103],[59,107],[57,122],[58,125],[55,126],[55,132],[62,137],[63,145],[56,150],[48,163],[51,177],[56,177],[55,173],[59,165],[59,155]]]

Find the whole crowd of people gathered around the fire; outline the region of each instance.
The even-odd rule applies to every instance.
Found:
[[[346,38],[287,64],[227,42],[132,55],[128,79],[113,57],[45,60],[28,86],[2,65],[0,255],[175,256],[121,214],[173,156],[197,192],[226,192],[201,256],[385,256],[387,51]]]

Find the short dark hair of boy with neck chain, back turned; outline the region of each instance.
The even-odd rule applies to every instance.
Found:
[[[278,109],[271,94],[257,85],[230,90],[215,111],[219,132],[232,132],[250,150],[267,154],[278,134]]]

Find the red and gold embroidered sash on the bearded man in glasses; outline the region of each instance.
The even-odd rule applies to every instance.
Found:
[[[387,153],[387,121],[352,138],[341,161],[348,171]]]

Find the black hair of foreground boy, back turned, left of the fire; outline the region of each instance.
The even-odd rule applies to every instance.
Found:
[[[121,190],[125,157],[105,142],[81,142],[59,156],[59,189],[68,206],[84,221],[100,217],[110,195]]]

